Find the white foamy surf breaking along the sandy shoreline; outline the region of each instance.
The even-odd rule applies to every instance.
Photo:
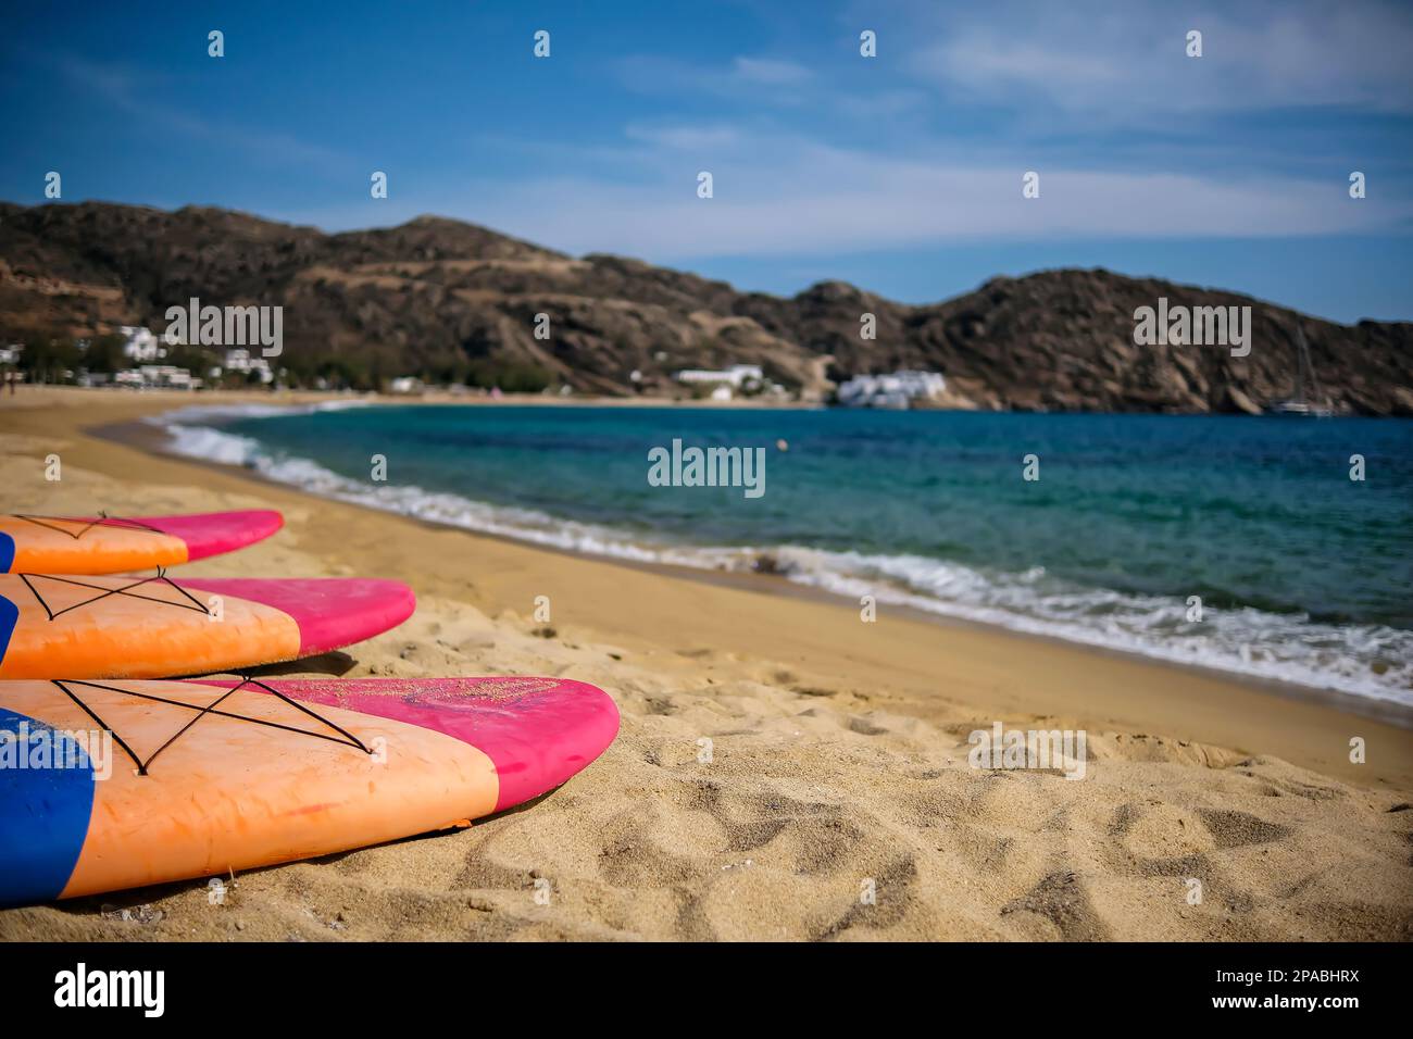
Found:
[[[249,409],[239,416],[253,417]],[[177,417],[184,421],[172,421]],[[222,411],[222,417],[232,413]],[[1188,621],[1181,599],[1087,588],[1051,578],[1041,567],[1016,574],[920,556],[653,543],[534,509],[348,479],[308,458],[271,454],[252,437],[191,424],[192,418],[189,410],[165,418],[172,451],[244,465],[317,495],[434,523],[639,563],[742,573],[769,568],[855,601],[873,595],[883,604],[940,616],[1413,707],[1413,632],[1402,629],[1334,626],[1303,615],[1210,606],[1195,622]]]

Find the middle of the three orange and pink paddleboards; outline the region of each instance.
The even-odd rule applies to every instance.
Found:
[[[400,581],[0,575],[0,679],[165,679],[326,653],[396,628]]]

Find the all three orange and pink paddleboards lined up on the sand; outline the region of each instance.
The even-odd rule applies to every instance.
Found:
[[[397,581],[165,571],[280,526],[0,517],[0,905],[469,826],[613,741],[613,701],[578,681],[252,677],[415,608]]]

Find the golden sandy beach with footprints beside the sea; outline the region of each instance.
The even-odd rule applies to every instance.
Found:
[[[769,577],[434,527],[95,433],[223,399],[0,397],[4,510],[280,509],[276,537],[172,575],[391,577],[418,598],[281,670],[572,677],[622,732],[469,830],[237,875],[220,906],[192,881],[4,910],[0,940],[1413,937],[1406,712],[886,608],[863,623]],[[971,768],[993,722],[1087,731],[1085,777]]]

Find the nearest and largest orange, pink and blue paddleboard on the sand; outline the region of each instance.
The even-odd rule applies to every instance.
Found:
[[[0,681],[0,903],[465,827],[617,727],[603,690],[564,679]]]

